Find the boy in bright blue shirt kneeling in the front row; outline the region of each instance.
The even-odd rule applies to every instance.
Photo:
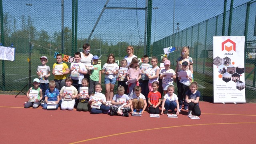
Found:
[[[59,102],[60,102],[60,92],[58,89],[55,88],[56,84],[54,80],[49,82],[49,88],[45,91],[45,103],[43,104],[43,109],[47,109],[48,102],[56,102],[56,110],[58,109]]]

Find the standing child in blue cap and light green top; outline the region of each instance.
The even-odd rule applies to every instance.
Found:
[[[93,70],[90,70],[88,74],[90,74],[89,86],[92,92],[94,92],[94,87],[96,84],[101,83],[101,66],[98,65],[98,56],[93,56]]]

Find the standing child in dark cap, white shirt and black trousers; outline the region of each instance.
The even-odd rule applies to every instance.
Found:
[[[186,76],[181,76],[181,72],[186,72]],[[192,72],[188,70],[188,62],[182,62],[182,70],[179,73],[179,88],[178,88],[178,100],[179,105],[182,106],[184,100],[184,110],[188,110],[188,103],[185,101],[186,92],[189,90],[190,82],[192,82]],[[179,108],[180,110],[181,108]]]

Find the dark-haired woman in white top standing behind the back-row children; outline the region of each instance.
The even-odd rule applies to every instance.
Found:
[[[85,43],[83,46],[84,51],[80,52],[81,53],[81,60],[83,64],[92,64],[92,57],[93,55],[90,54],[90,44]],[[89,74],[84,74],[84,78],[87,78],[90,80],[90,75]]]

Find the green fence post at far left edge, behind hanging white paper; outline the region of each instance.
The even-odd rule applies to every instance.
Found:
[[[3,13],[3,1],[0,0],[0,19],[1,19],[1,42],[4,45],[4,13]],[[3,91],[5,91],[5,70],[4,70],[4,60],[2,60],[2,84]]]

